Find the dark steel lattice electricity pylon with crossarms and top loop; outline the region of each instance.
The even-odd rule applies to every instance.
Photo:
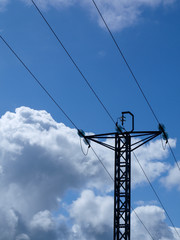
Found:
[[[124,122],[129,114],[132,118],[132,129],[126,131]],[[116,123],[116,132],[85,136],[80,135],[86,143],[93,141],[115,152],[114,161],[114,240],[130,240],[131,214],[131,152],[151,141],[160,134],[167,140],[163,125],[159,131],[134,131],[134,115],[122,112],[121,126]],[[115,146],[105,143],[104,139],[114,139]]]

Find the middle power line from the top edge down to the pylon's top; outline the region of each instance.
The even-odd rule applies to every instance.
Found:
[[[115,124],[115,121],[113,119],[113,117],[111,116],[110,112],[108,111],[108,109],[106,108],[106,106],[103,104],[103,102],[101,101],[101,99],[99,98],[99,96],[97,95],[97,93],[95,92],[95,90],[93,89],[93,87],[91,86],[91,84],[89,83],[89,81],[87,80],[87,78],[85,77],[85,75],[83,74],[83,72],[81,71],[81,69],[78,67],[77,63],[75,62],[75,60],[73,59],[73,57],[71,56],[71,54],[68,52],[68,50],[66,49],[66,47],[64,46],[64,44],[62,43],[62,41],[60,40],[60,38],[58,37],[58,35],[55,33],[55,31],[53,30],[53,28],[51,27],[51,25],[49,24],[49,22],[47,21],[47,19],[44,17],[44,15],[42,14],[41,10],[38,8],[38,6],[36,5],[36,3],[31,0],[31,2],[33,3],[33,5],[35,6],[35,8],[37,9],[37,11],[39,12],[39,14],[41,15],[41,17],[43,18],[43,20],[45,21],[45,23],[47,24],[47,26],[49,27],[49,29],[51,30],[51,32],[53,33],[54,37],[57,39],[58,43],[61,45],[61,47],[64,49],[64,51],[66,52],[66,54],[68,55],[69,59],[71,60],[71,62],[73,63],[73,65],[75,66],[75,68],[77,69],[77,71],[80,73],[80,75],[82,76],[82,78],[84,79],[84,81],[86,82],[86,84],[88,85],[88,87],[91,89],[92,93],[94,94],[94,96],[97,98],[97,100],[99,101],[99,103],[101,104],[101,106],[104,108],[104,110],[106,111],[106,113],[108,114],[108,116],[110,117],[110,119],[113,121],[113,123]]]

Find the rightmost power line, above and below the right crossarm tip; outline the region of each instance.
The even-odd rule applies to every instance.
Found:
[[[116,41],[116,39],[115,39],[115,37],[114,37],[112,31],[110,30],[110,28],[109,28],[109,26],[108,26],[108,24],[107,24],[105,18],[103,17],[103,15],[102,15],[102,13],[101,13],[99,7],[97,6],[95,0],[91,0],[91,1],[93,2],[93,4],[94,4],[96,10],[98,11],[98,13],[99,13],[99,15],[100,15],[102,21],[104,22],[104,25],[106,26],[106,28],[107,28],[107,30],[108,30],[108,32],[109,32],[109,34],[110,34],[110,36],[111,36],[111,38],[112,38],[112,40],[113,40],[115,46],[117,47],[118,52],[120,53],[121,57],[123,58],[123,60],[124,60],[124,62],[125,62],[125,64],[126,64],[128,70],[130,71],[130,73],[131,73],[131,75],[132,75],[134,81],[136,82],[136,84],[137,84],[137,86],[138,86],[140,92],[142,93],[142,95],[143,95],[143,97],[144,97],[144,99],[145,99],[147,105],[149,106],[149,108],[150,108],[150,110],[151,110],[151,112],[152,112],[154,118],[156,119],[157,123],[160,124],[157,115],[155,114],[155,112],[154,112],[154,110],[153,110],[153,108],[152,108],[152,106],[151,106],[149,100],[147,99],[147,97],[146,97],[146,95],[145,95],[145,93],[144,93],[144,91],[143,91],[141,85],[139,84],[139,82],[138,82],[138,80],[137,80],[137,78],[136,78],[136,76],[135,76],[135,74],[134,74],[132,68],[130,67],[130,65],[129,65],[127,59],[125,58],[125,56],[124,56],[124,54],[123,54],[121,48],[119,47],[119,44],[117,43],[117,41]],[[178,167],[178,169],[179,169],[179,171],[180,171],[180,166],[179,166],[179,164],[178,164],[177,158],[176,158],[176,156],[175,156],[175,154],[174,154],[174,152],[173,152],[173,150],[172,150],[172,147],[171,147],[169,141],[168,141],[168,145],[169,145],[170,151],[171,151],[171,153],[172,153],[172,155],[173,155],[174,161],[175,161],[175,163],[176,163],[176,165],[177,165],[177,167]]]

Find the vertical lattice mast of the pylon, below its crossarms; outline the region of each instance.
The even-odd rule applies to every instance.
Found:
[[[115,137],[114,240],[130,240],[131,136]]]

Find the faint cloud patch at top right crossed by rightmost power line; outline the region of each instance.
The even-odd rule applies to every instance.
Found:
[[[96,0],[95,2],[110,29],[121,31],[139,23],[146,8],[154,9],[159,6],[170,5],[175,0]],[[91,1],[81,0],[81,3],[93,13],[93,17],[96,16],[98,24],[104,28],[104,23]]]

